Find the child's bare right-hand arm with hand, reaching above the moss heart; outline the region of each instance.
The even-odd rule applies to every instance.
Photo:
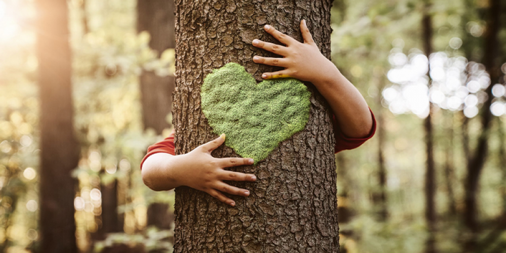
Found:
[[[256,63],[285,68],[273,73],[264,73],[262,77],[264,79],[293,77],[312,82],[330,104],[346,136],[352,138],[367,136],[373,125],[367,102],[338,68],[320,53],[306,26],[306,21],[301,22],[304,43],[281,33],[272,26],[266,25],[264,28],[286,47],[259,39],[252,41],[255,47],[283,56],[283,58],[253,57]]]

